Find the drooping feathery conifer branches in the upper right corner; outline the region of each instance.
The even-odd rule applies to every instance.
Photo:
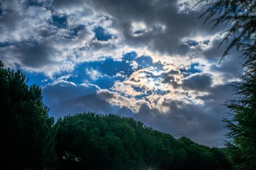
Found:
[[[228,41],[230,43],[228,44],[226,50],[224,50],[222,58],[228,54],[228,51],[231,48],[235,48],[239,52],[243,52],[243,54],[247,53],[249,49],[251,49],[254,53],[256,52],[256,1],[197,0],[196,5],[199,3],[203,3],[203,5],[207,8],[199,18],[206,15],[205,22],[213,24],[212,29],[220,26],[221,24],[227,26],[227,30],[222,33],[224,34],[222,43]],[[251,56],[251,54],[249,56]],[[248,58],[248,56],[245,57]]]

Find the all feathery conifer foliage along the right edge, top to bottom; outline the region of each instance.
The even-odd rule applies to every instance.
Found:
[[[224,119],[228,136],[228,156],[234,169],[256,169],[256,1],[251,0],[198,0],[205,3],[207,16],[213,28],[226,24],[223,42],[228,42],[224,58],[235,48],[245,60],[241,81],[232,84],[236,99],[226,106],[230,118]],[[220,44],[221,45],[221,44]]]

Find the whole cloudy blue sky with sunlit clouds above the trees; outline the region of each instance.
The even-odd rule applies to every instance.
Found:
[[[0,0],[0,60],[42,89],[55,120],[119,114],[222,144],[241,59],[193,0]]]

